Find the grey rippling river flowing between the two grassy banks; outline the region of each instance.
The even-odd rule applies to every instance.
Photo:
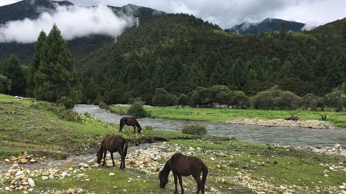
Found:
[[[85,112],[101,118],[105,122],[119,124],[125,115],[117,115],[98,111],[95,105],[78,105],[74,110],[80,114]],[[208,135],[236,137],[239,140],[261,144],[279,144],[291,146],[333,147],[336,143],[346,147],[346,129],[311,129],[300,127],[265,127],[252,125],[237,125],[226,123],[169,120],[159,118],[139,118],[142,133],[145,135],[145,125],[151,125],[156,130],[176,131],[186,124],[202,124],[207,127]]]

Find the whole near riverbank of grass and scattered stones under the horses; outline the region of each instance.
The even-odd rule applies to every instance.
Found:
[[[117,124],[90,116],[81,116],[78,122],[68,121],[71,118],[58,116],[39,103],[42,102],[28,98],[15,101],[12,96],[0,95],[0,147],[4,148],[0,151],[0,168],[6,168],[6,173],[0,174],[0,193],[11,189],[11,182],[22,176],[17,174],[19,170],[35,182],[37,190],[33,192],[38,193],[65,193],[69,189],[90,194],[171,193],[174,191],[173,177],[169,176],[168,185],[161,189],[157,173],[175,152],[197,156],[208,166],[206,192],[209,194],[344,192],[340,180],[345,180],[343,167],[346,164],[341,155],[318,154],[290,146],[255,144],[226,137],[197,137],[147,130],[144,127],[141,134],[133,134],[131,127],[125,127],[123,133],[119,133]],[[42,135],[37,135],[39,133]],[[94,154],[107,133],[123,135],[131,146],[142,142],[157,144],[139,149],[131,147],[124,171],[117,167],[97,166],[90,154],[81,156]],[[63,156],[71,159],[72,163],[55,165],[51,162]],[[27,164],[21,161],[24,157]],[[12,161],[13,158],[17,159]],[[35,162],[28,158],[35,159]],[[118,165],[119,155],[115,154],[115,158]],[[109,160],[106,159],[108,163]],[[325,168],[326,164],[333,169]],[[26,184],[25,181],[21,184]],[[186,193],[197,190],[191,176],[183,177],[183,183]]]

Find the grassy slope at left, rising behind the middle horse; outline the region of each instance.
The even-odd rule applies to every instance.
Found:
[[[0,94],[0,106],[0,159],[19,156],[24,151],[42,156],[59,151],[68,155],[93,153],[104,135],[120,134],[118,125],[71,114],[32,98],[17,101],[13,96]],[[192,138],[181,133],[152,130],[144,130],[143,134],[145,136],[133,134],[131,130],[121,133],[131,145],[167,138]]]

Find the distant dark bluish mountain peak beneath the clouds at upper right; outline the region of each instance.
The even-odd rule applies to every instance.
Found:
[[[261,22],[244,22],[239,25],[234,25],[229,30],[231,32],[237,32],[238,34],[246,35],[253,34],[257,35],[262,32],[279,31],[281,22],[286,23],[286,29],[288,31],[299,31],[305,24],[294,21],[286,21],[282,19],[266,18]]]

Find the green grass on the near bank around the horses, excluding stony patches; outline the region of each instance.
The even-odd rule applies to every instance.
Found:
[[[116,124],[104,123],[89,117],[83,117],[83,121],[79,123],[70,122],[53,114],[44,106],[39,106],[39,103],[30,98],[15,101],[13,96],[0,95],[0,161],[10,156],[19,156],[24,151],[47,157],[52,157],[52,153],[56,151],[65,152],[68,156],[75,153],[94,153],[102,140],[101,137],[107,133],[119,134]],[[207,112],[209,109],[202,110]],[[28,130],[27,127],[32,125],[34,128]],[[125,128],[125,132],[121,135],[129,139],[131,145],[167,140],[168,145],[180,146],[185,151],[188,151],[188,147],[202,148],[203,154],[195,155],[209,168],[206,184],[208,192],[213,187],[219,193],[253,193],[245,182],[233,180],[240,172],[252,180],[260,181],[263,178],[264,183],[275,186],[269,189],[276,193],[282,193],[278,189],[280,185],[288,187],[288,190],[292,187],[295,193],[314,193],[316,190],[320,190],[320,193],[329,193],[332,186],[338,188],[345,182],[343,180],[346,180],[346,172],[341,169],[330,171],[329,177],[325,177],[324,166],[320,165],[328,163],[332,166],[340,162],[345,164],[345,157],[317,155],[297,151],[291,147],[247,143],[225,137],[202,138],[178,132],[143,129],[142,134],[133,134],[131,128]],[[211,157],[215,160],[211,160]],[[165,160],[160,162],[164,163]],[[69,167],[60,169],[66,170]],[[108,176],[111,172],[116,175]],[[63,180],[42,181],[38,176],[36,185],[42,191],[63,191],[73,187],[95,193],[173,193],[174,191],[172,176],[169,176],[170,181],[166,188],[161,189],[157,174],[149,175],[133,168],[119,171],[118,168],[98,167],[88,170],[85,174],[88,175],[89,182],[82,181],[84,178],[72,176]],[[129,183],[128,178],[132,178],[133,181]],[[222,182],[220,179],[225,181]],[[183,177],[183,182],[184,187],[189,188],[189,192],[186,193],[195,192],[196,185],[191,176]],[[4,186],[8,186],[8,183],[1,185],[0,181],[0,187]],[[118,188],[113,189],[114,186]],[[267,192],[268,187],[259,186],[258,189],[270,193]]]

